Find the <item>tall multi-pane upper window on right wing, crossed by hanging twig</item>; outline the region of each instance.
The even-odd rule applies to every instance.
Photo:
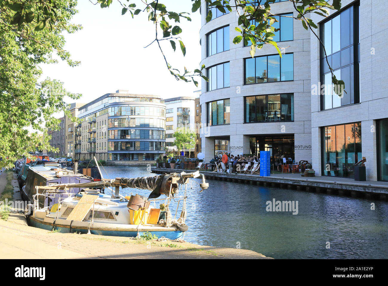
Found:
[[[359,6],[350,6],[340,14],[321,24],[321,110],[360,102],[359,97]],[[331,71],[345,83],[340,97],[334,92]]]

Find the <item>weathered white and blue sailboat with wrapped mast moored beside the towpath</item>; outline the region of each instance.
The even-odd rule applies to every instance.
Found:
[[[171,173],[151,177],[135,179],[116,178],[113,180],[102,179],[99,182],[79,184],[57,184],[50,186],[36,186],[32,210],[26,209],[28,225],[42,229],[57,229],[60,232],[89,233],[106,236],[139,237],[147,232],[158,238],[165,237],[171,240],[179,239],[187,231],[186,199],[187,184],[191,179],[202,176],[199,184],[201,192],[208,188],[204,175],[194,173]],[[194,182],[196,183],[196,182]],[[64,191],[69,188],[79,187],[83,192],[68,194],[63,198]],[[112,195],[100,194],[98,190],[90,188],[115,187]],[[121,188],[148,189],[151,192],[149,198],[140,198],[136,195],[137,202],[133,203],[133,197],[123,197],[118,192]],[[179,188],[181,190],[179,190]],[[88,189],[89,188],[89,189]],[[183,190],[184,189],[184,190]],[[182,195],[179,191],[184,191]],[[160,195],[166,197],[159,198]],[[59,204],[41,207],[38,202],[42,196],[59,197]],[[170,202],[175,203],[175,213],[170,211]],[[55,201],[58,201],[55,199]],[[165,217],[159,215],[159,203],[165,204]],[[135,207],[133,207],[135,206]],[[173,212],[174,212],[173,211]],[[178,217],[177,217],[178,216]]]

